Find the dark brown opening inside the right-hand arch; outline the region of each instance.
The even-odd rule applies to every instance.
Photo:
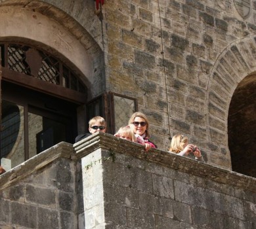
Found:
[[[234,91],[228,113],[228,147],[232,170],[256,177],[256,75],[245,77]]]

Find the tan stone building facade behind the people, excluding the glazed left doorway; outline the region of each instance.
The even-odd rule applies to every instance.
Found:
[[[255,1],[100,3],[3,0],[0,39],[46,50],[85,84],[77,134],[87,103],[113,92],[136,99],[160,149],[183,133],[207,163],[255,174]],[[108,107],[109,123],[125,110]]]

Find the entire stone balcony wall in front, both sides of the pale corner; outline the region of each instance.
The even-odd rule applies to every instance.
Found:
[[[0,176],[0,227],[253,229],[256,179],[96,133]]]

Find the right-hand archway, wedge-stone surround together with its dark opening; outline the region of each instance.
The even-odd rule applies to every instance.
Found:
[[[238,171],[235,164],[239,160],[240,168],[251,167],[251,162],[255,162],[255,159],[251,158],[253,152],[245,160],[239,158],[244,150],[242,147],[238,150],[235,145],[238,138],[242,137],[239,131],[242,130],[243,134],[246,132],[246,127],[243,126],[244,120],[248,118],[246,125],[253,120],[255,122],[255,116],[252,116],[251,111],[254,106],[255,113],[255,99],[253,99],[255,94],[252,92],[255,90],[253,85],[256,80],[255,39],[255,35],[249,35],[223,50],[212,69],[207,88],[207,132],[209,144],[213,146],[211,147],[213,150],[209,150],[210,162],[234,171]],[[247,99],[249,103],[243,104]],[[243,105],[244,108],[242,108]],[[247,118],[244,117],[245,115]],[[255,132],[249,128],[246,135],[255,137]],[[241,139],[244,140],[244,147],[246,145],[245,148],[251,150],[251,143],[246,137]],[[251,137],[249,139],[252,141]],[[239,142],[241,144],[242,140]],[[238,172],[246,174],[242,170]]]

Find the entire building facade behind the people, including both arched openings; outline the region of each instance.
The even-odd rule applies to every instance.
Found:
[[[141,111],[160,150],[182,133],[209,166],[255,177],[255,1],[1,0],[0,19],[1,164],[9,169],[74,143],[92,116],[114,133]],[[244,223],[238,215],[229,217]]]

